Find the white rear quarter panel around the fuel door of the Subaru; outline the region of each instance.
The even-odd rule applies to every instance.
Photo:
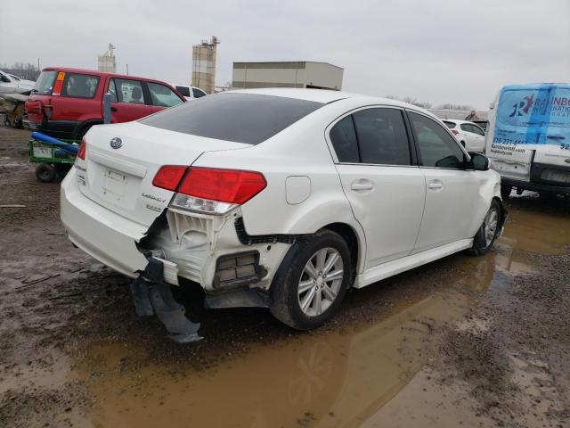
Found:
[[[261,144],[241,150],[207,152],[193,163],[264,174],[265,190],[241,207],[249,235],[311,234],[322,226],[341,222],[353,228],[364,251],[362,227],[342,190],[324,136],[330,122],[354,108],[343,101],[323,106]],[[286,180],[299,176],[309,178],[310,194],[305,201],[290,204]]]

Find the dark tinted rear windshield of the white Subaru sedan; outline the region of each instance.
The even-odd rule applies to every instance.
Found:
[[[322,105],[281,96],[218,94],[161,111],[140,122],[192,136],[259,144]]]

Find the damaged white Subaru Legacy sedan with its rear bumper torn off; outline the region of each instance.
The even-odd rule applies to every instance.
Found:
[[[428,111],[318,89],[210,95],[95,126],[61,184],[71,242],[133,277],[137,313],[179,342],[198,325],[170,284],[309,329],[349,287],[484,254],[506,215],[487,158]]]

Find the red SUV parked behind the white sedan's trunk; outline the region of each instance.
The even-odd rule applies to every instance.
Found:
[[[140,119],[185,100],[167,83],[94,70],[42,70],[26,102],[24,127],[55,138],[78,140],[103,122],[110,92],[111,123]]]

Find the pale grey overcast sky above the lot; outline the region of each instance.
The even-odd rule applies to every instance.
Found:
[[[485,109],[499,87],[570,81],[570,0],[0,0],[0,63],[190,82],[191,45],[217,36],[216,85],[232,62],[322,61],[343,89]]]

